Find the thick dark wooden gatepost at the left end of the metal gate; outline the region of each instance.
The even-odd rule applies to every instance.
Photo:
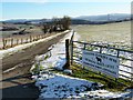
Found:
[[[70,69],[69,39],[65,40],[65,60],[66,63],[63,69]]]

